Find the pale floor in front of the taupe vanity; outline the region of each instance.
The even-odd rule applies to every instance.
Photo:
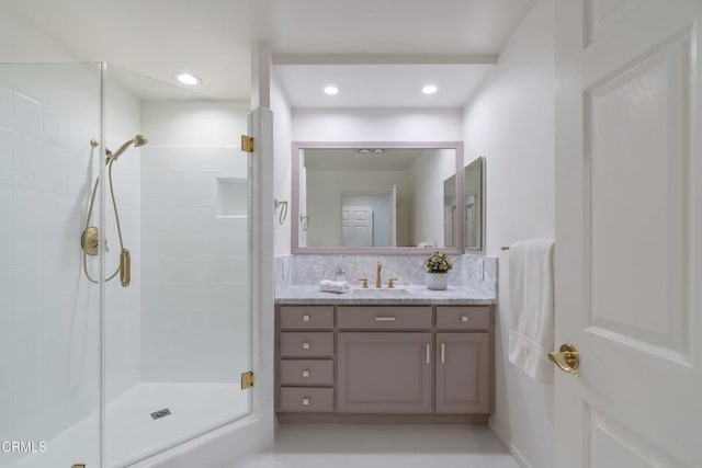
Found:
[[[519,468],[485,426],[280,425],[235,468]]]

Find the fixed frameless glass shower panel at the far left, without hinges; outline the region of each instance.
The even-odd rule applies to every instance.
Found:
[[[101,293],[80,247],[100,73],[0,65],[0,467],[100,466]]]

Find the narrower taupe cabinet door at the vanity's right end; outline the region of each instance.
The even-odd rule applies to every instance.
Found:
[[[437,333],[437,412],[490,412],[489,333]]]

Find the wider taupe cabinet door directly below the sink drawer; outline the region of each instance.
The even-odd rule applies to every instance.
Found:
[[[337,346],[339,412],[431,412],[431,333],[341,332]]]

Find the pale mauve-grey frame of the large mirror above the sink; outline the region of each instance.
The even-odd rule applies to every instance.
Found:
[[[353,148],[409,148],[409,149],[453,149],[455,151],[456,198],[457,213],[463,213],[463,141],[293,141],[292,150],[292,226],[291,226],[291,252],[293,254],[380,254],[380,255],[427,255],[429,250],[445,253],[462,254],[463,222],[456,222],[455,247],[449,248],[418,248],[418,247],[299,247],[299,151],[302,149],[353,149]]]

